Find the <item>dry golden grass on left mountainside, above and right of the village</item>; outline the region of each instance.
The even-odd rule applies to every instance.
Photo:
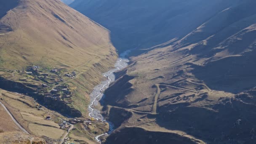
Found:
[[[0,68],[20,70],[35,64],[44,69],[76,70],[75,80],[61,75],[75,90],[71,107],[86,117],[88,94],[117,58],[109,31],[59,0],[20,0],[0,24],[12,29],[0,37]],[[17,72],[3,72],[1,77],[41,83],[32,78],[20,81],[24,75]]]

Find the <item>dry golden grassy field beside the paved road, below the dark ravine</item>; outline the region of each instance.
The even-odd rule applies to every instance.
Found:
[[[3,99],[2,102],[10,110],[16,120],[31,134],[36,136],[47,136],[52,139],[59,139],[63,135],[64,130],[59,129],[59,125],[53,121],[59,120],[59,117],[64,118],[57,112],[53,112],[45,107],[42,107],[41,110],[29,107],[18,99],[22,99],[29,104],[36,104],[33,99],[28,96],[4,90],[0,91],[0,98]],[[3,115],[3,117],[0,118],[0,129],[3,131],[20,131],[19,128],[15,129],[16,125],[12,124],[13,121],[10,120],[8,115],[5,115],[5,111],[0,109],[0,112]],[[51,115],[53,120],[45,120],[45,117],[48,115]]]

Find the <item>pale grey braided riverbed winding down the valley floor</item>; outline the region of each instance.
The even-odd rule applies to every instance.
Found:
[[[102,136],[107,136],[110,133],[112,133],[112,131],[114,131],[114,125],[113,125],[113,123],[105,120],[105,118],[101,115],[100,110],[96,109],[95,106],[99,104],[99,101],[104,96],[104,90],[106,90],[109,87],[110,83],[115,81],[114,72],[119,71],[128,66],[129,60],[126,59],[125,56],[127,56],[129,52],[130,51],[125,51],[124,53],[120,54],[120,57],[117,59],[117,62],[115,63],[115,69],[111,69],[108,72],[105,72],[103,74],[104,77],[107,77],[107,80],[104,80],[101,82],[101,84],[95,86],[93,89],[93,92],[90,94],[91,104],[88,107],[89,116],[96,120],[101,120],[101,121],[107,122],[109,124],[108,133],[103,133],[103,134],[95,137],[95,140],[98,141],[99,143],[101,143],[100,138]]]

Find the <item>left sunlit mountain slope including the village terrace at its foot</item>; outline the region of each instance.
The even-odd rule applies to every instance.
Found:
[[[60,0],[1,3],[10,7],[1,9],[6,14],[0,19],[0,88],[31,96],[36,92],[48,108],[87,116],[89,93],[117,58],[109,31]],[[67,77],[74,70],[73,79]],[[50,93],[63,84],[72,98]]]

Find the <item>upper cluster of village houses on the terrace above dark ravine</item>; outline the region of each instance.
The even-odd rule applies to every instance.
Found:
[[[20,93],[43,96],[40,99],[49,100],[45,103],[46,106],[54,105],[54,101],[61,104],[71,104],[74,94],[74,87],[70,87],[67,82],[77,77],[77,72],[67,72],[67,69],[50,69],[32,65],[22,70],[0,69],[0,78],[3,80],[11,80],[14,83],[19,83],[21,90],[26,90]],[[47,99],[45,99],[47,98]],[[70,105],[71,106],[71,105]],[[39,108],[40,109],[40,108]],[[67,112],[64,112],[67,113]]]

